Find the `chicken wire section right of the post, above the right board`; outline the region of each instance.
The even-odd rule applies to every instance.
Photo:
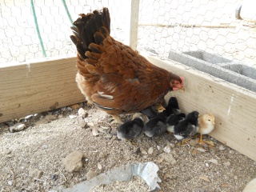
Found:
[[[256,25],[235,18],[238,6],[234,0],[141,0],[138,48],[256,91]]]

